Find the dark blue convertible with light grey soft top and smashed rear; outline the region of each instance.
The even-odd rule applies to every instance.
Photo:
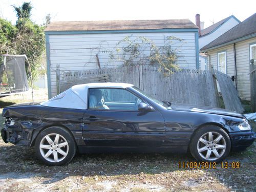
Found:
[[[127,83],[80,84],[45,102],[8,106],[3,116],[4,141],[35,147],[48,165],[77,151],[190,152],[220,162],[254,141],[241,114],[158,101]]]

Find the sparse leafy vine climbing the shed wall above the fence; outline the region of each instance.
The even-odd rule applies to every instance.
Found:
[[[112,51],[104,50],[109,54],[110,62],[123,62],[123,65],[159,65],[159,71],[165,76],[178,70],[177,65],[179,48],[173,49],[174,42],[183,39],[164,37],[163,46],[156,46],[155,42],[146,37],[127,36],[120,40]]]

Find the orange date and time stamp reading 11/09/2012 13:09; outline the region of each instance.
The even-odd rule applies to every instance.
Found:
[[[216,162],[179,162],[178,168],[201,168],[201,169],[216,169]],[[220,168],[240,168],[240,162],[221,162]]]

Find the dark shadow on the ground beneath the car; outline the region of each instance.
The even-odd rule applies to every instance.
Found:
[[[194,161],[189,154],[76,154],[64,166],[46,166],[35,156],[33,148],[23,148],[11,144],[0,146],[0,162],[4,165],[0,173],[35,172],[48,177],[51,174],[67,175],[123,175],[123,174],[160,174],[178,170],[180,161]],[[63,175],[65,176],[65,175]]]

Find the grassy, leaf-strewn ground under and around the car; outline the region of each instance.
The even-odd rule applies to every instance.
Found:
[[[45,99],[45,90],[35,90],[36,101]],[[15,95],[1,98],[0,105],[30,100],[30,94]],[[240,162],[240,168],[227,169],[179,168],[179,162],[195,162],[189,154],[77,154],[54,167],[38,161],[33,148],[0,139],[0,191],[256,191],[255,152],[254,142],[231,153],[225,161]]]

